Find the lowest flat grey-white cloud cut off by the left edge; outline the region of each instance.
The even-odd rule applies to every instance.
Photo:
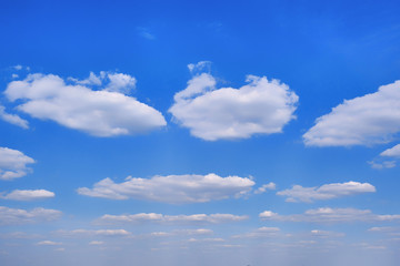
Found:
[[[42,207],[26,211],[20,208],[9,208],[0,206],[0,225],[17,225],[39,222],[50,222],[58,219],[61,212]]]

